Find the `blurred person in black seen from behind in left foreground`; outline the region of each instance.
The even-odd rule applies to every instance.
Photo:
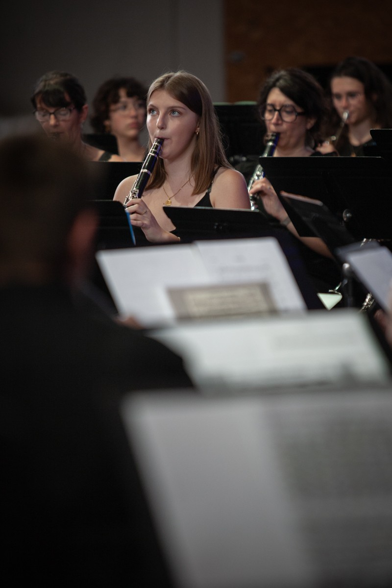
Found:
[[[182,360],[79,307],[97,225],[89,165],[0,142],[2,532],[8,586],[167,586],[118,405],[189,387]]]

